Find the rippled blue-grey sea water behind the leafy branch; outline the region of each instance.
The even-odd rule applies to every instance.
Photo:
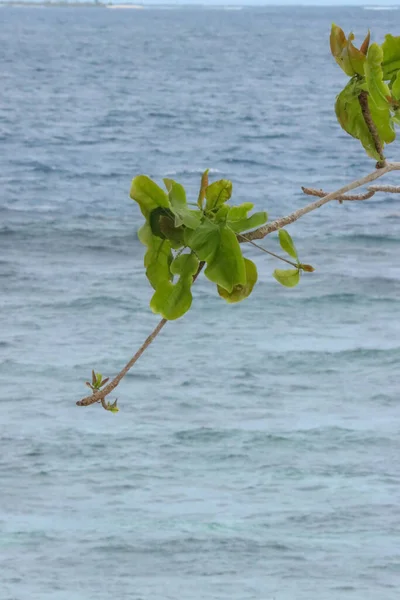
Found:
[[[332,21],[400,33],[400,11],[0,9],[1,600],[399,597],[396,197],[290,227],[316,268],[296,289],[246,248],[249,300],[200,279],[121,412],[75,406],[158,322],[133,176],[195,197],[211,167],[275,218],[373,168],[336,123]]]

